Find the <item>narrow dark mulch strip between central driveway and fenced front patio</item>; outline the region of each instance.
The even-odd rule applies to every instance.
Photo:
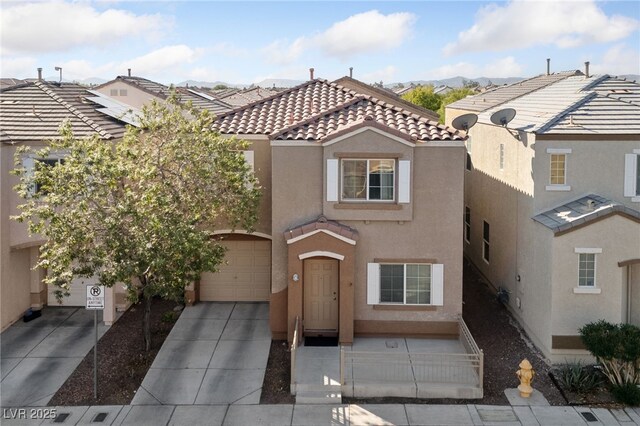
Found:
[[[264,373],[260,404],[293,404],[290,392],[291,353],[286,340],[273,340]]]

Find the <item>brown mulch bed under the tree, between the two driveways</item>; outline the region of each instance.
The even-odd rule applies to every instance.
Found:
[[[98,341],[98,400],[93,399],[93,349],[82,360],[49,406],[126,405],[131,402],[175,321],[162,321],[175,302],[154,299],[151,305],[151,350],[142,341],[142,304],[131,306]],[[175,312],[177,319],[180,312]]]

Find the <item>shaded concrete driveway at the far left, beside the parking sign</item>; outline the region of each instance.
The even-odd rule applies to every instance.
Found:
[[[108,327],[100,324],[98,337]],[[93,312],[48,307],[30,322],[19,320],[0,334],[0,405],[45,406],[95,342]],[[99,353],[98,353],[99,355]]]

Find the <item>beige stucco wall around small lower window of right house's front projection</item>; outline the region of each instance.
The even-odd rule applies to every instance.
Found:
[[[548,231],[551,235],[552,232]],[[597,248],[596,289],[600,294],[574,294],[578,287],[576,248]],[[626,267],[618,262],[640,258],[640,224],[619,215],[553,238],[554,336],[577,336],[578,329],[595,319],[626,320]],[[555,358],[562,350],[552,351]]]

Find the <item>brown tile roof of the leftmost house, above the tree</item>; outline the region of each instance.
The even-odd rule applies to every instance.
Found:
[[[0,127],[3,142],[41,141],[59,137],[63,120],[71,121],[77,137],[94,134],[103,139],[120,138],[123,121],[99,111],[88,98],[92,94],[78,84],[43,81],[0,90]]]

